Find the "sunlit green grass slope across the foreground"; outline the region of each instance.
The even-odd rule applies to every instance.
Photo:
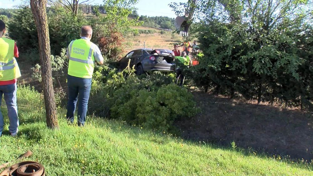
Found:
[[[68,126],[59,109],[59,130],[44,121],[42,96],[27,87],[18,89],[20,127],[9,136],[6,107],[5,130],[0,137],[0,164],[14,161],[31,150],[27,160],[42,163],[46,175],[312,175],[312,165],[292,163],[189,142],[123,122],[89,117],[85,127]]]

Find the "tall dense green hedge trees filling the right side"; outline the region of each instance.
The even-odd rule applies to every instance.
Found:
[[[196,85],[312,109],[313,17],[299,2],[198,1],[193,31],[205,56],[192,67]]]

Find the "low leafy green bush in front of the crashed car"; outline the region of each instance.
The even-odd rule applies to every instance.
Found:
[[[178,116],[198,112],[192,94],[173,84],[174,74],[137,77],[134,70],[109,70],[98,67],[93,76],[88,110],[96,115],[168,131]]]

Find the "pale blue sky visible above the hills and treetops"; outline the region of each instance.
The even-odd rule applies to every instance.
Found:
[[[22,4],[25,0],[0,0],[0,8],[16,8]],[[92,1],[92,0],[91,0]],[[176,18],[175,12],[168,5],[169,3],[186,3],[188,0],[139,0],[135,5],[139,16],[147,15],[153,16],[167,16],[170,18]],[[103,0],[94,0],[90,4],[103,4]]]

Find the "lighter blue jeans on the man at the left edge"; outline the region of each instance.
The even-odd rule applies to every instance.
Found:
[[[16,83],[9,84],[9,85],[0,85],[0,106],[1,106],[2,96],[4,95],[4,100],[8,108],[8,117],[10,121],[10,126],[9,126],[10,133],[15,133],[19,125],[18,106],[16,104],[16,91],[17,91]],[[0,110],[0,133],[2,133],[3,131],[3,126],[4,126],[4,120],[3,120],[3,115]]]

